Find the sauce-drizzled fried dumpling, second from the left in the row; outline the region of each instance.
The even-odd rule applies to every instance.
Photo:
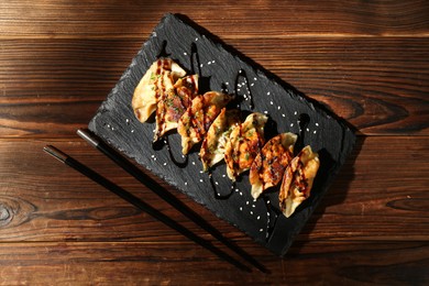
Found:
[[[179,78],[174,88],[162,92],[156,105],[156,128],[154,141],[167,131],[176,129],[178,120],[198,95],[198,76]]]

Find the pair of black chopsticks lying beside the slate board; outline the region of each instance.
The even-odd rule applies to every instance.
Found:
[[[233,242],[228,240],[226,237],[223,237],[216,228],[213,228],[211,224],[209,224],[206,220],[204,220],[198,213],[196,213],[194,210],[191,210],[189,207],[187,207],[185,204],[183,204],[180,200],[178,200],[175,196],[173,196],[169,191],[167,191],[165,188],[163,188],[160,184],[157,184],[154,179],[148,177],[146,174],[144,174],[142,170],[140,170],[136,166],[134,166],[131,162],[125,160],[122,155],[120,155],[117,151],[111,148],[109,145],[103,143],[101,140],[97,139],[94,134],[90,134],[88,131],[78,130],[78,135],[81,136],[84,140],[86,140],[90,145],[99,150],[101,153],[103,153],[106,156],[108,156],[110,160],[112,160],[116,164],[118,164],[120,167],[122,167],[125,172],[128,172],[130,175],[132,175],[134,178],[136,178],[139,182],[141,182],[143,185],[145,185],[147,188],[150,188],[153,193],[155,193],[157,196],[160,196],[162,199],[167,201],[170,206],[176,208],[178,211],[180,211],[183,215],[185,215],[187,218],[193,220],[195,223],[197,223],[200,228],[209,232],[213,238],[222,242],[224,245],[227,245],[230,250],[234,251],[237,254],[239,254],[242,258],[244,258],[246,262],[251,263],[253,266],[258,268],[260,271],[264,273],[268,273],[268,271],[260,264],[255,258],[253,258],[250,254],[244,252],[242,249],[240,249],[238,245],[235,245]],[[211,251],[219,257],[223,258],[224,261],[233,264],[234,266],[239,267],[242,271],[251,272],[251,268],[249,268],[246,265],[242,264],[241,262],[237,261],[232,256],[230,256],[228,253],[221,251],[220,249],[216,248],[212,243],[209,241],[198,237],[194,232],[189,231],[182,224],[177,223],[169,217],[165,216],[161,211],[156,210],[155,208],[151,207],[140,198],[135,197],[134,195],[130,194],[129,191],[124,190],[123,188],[119,187],[114,183],[108,180],[107,178],[102,177],[95,170],[90,169],[89,167],[85,166],[80,162],[74,160],[73,157],[68,156],[67,154],[61,152],[59,150],[55,148],[54,146],[47,145],[44,147],[44,151],[48,153],[50,155],[54,156],[55,158],[59,160],[61,162],[65,163],[66,165],[73,167],[74,169],[78,170],[82,175],[89,177],[94,182],[98,183],[99,185],[106,187],[117,196],[121,197],[122,199],[127,200],[128,202],[132,204],[136,208],[145,211],[146,213],[151,215],[155,219],[162,221],[163,223],[167,224],[168,227],[175,229],[186,238],[190,239],[191,241],[198,243],[199,245],[206,248],[207,250]]]

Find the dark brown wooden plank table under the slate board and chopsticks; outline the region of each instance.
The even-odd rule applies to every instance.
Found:
[[[76,135],[166,12],[358,130],[284,258],[161,182],[272,274],[238,271],[42,152],[59,147],[226,250]],[[3,0],[0,89],[2,285],[429,283],[428,1]]]

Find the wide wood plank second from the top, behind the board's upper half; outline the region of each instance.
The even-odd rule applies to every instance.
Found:
[[[0,136],[74,136],[144,41],[2,41]],[[255,38],[227,44],[363,134],[429,134],[429,38]]]

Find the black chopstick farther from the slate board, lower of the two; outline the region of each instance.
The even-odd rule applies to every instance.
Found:
[[[139,208],[140,210],[148,213],[150,216],[154,217],[155,219],[160,220],[161,222],[165,223],[166,226],[170,227],[172,229],[178,231],[189,240],[198,243],[202,248],[211,251],[213,254],[218,255],[220,258],[231,263],[232,265],[237,266],[238,268],[245,271],[245,272],[252,272],[251,268],[242,264],[241,262],[237,261],[226,252],[221,251],[220,249],[216,248],[213,244],[211,244],[209,241],[198,237],[187,228],[183,227],[175,220],[170,219],[163,212],[158,211],[157,209],[151,207],[140,198],[135,197],[131,193],[124,190],[123,188],[119,187],[114,183],[108,180],[100,174],[96,173],[91,168],[87,167],[86,165],[81,164],[80,162],[76,161],[75,158],[68,156],[67,154],[63,153],[58,148],[47,145],[43,148],[47,154],[52,155],[53,157],[57,158],[62,163],[70,166],[72,168],[76,169],[77,172],[81,173],[82,175],[87,176],[88,178],[92,179],[94,182],[98,183],[99,185],[103,186],[111,193],[116,194],[120,198],[127,200],[128,202],[132,204],[134,207]]]

